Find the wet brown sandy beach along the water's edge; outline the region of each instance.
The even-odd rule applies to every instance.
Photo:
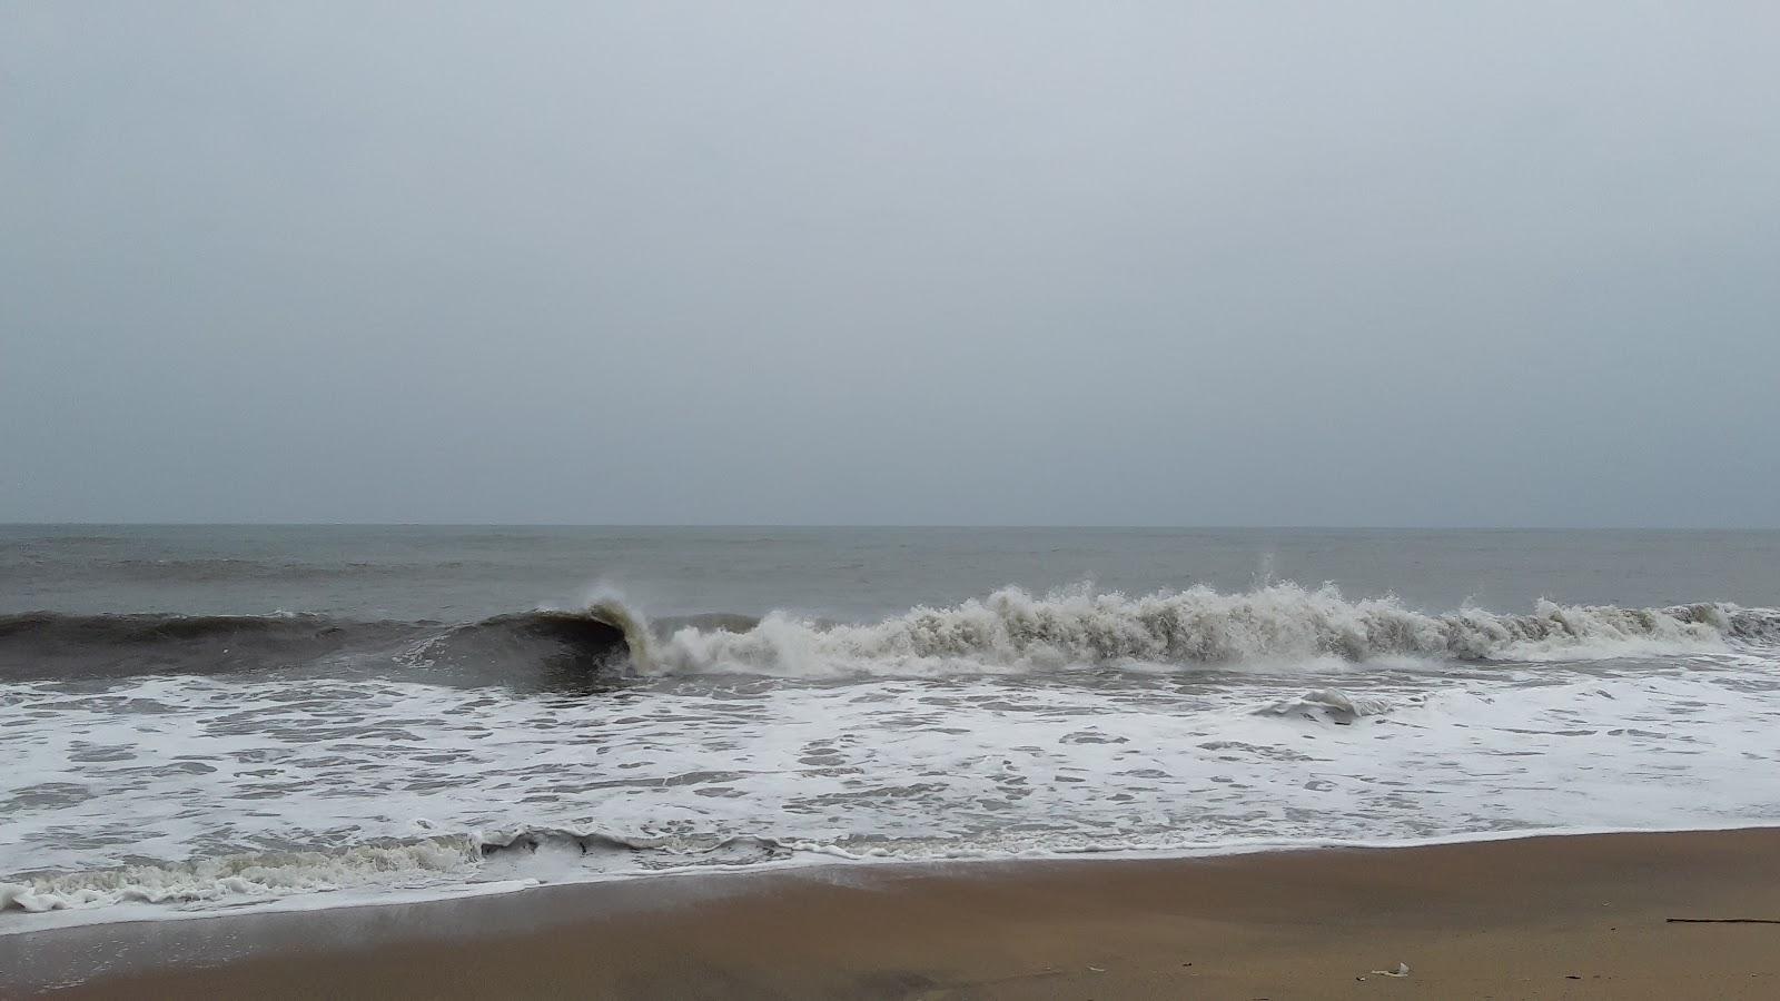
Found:
[[[0,992],[1780,997],[1780,924],[1670,917],[1780,919],[1780,830],[837,866],[71,928],[0,939]]]

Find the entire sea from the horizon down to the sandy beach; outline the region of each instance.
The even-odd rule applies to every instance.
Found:
[[[0,525],[0,935],[1780,823],[1780,533]]]

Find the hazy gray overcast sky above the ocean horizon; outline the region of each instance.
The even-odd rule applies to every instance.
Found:
[[[5,0],[0,520],[1776,525],[1775,39]]]

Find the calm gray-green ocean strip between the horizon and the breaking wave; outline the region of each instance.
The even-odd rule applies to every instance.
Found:
[[[1264,577],[1433,611],[1780,606],[1776,565],[1776,531],[0,525],[0,613],[470,620],[611,582],[653,614],[869,620],[1007,584],[1241,591]]]

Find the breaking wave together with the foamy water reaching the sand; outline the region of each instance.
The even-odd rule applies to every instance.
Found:
[[[50,671],[43,664],[55,664]],[[548,670],[541,668],[546,664]],[[1780,613],[1007,586],[874,622],[0,620],[0,933],[773,864],[1780,818]]]

